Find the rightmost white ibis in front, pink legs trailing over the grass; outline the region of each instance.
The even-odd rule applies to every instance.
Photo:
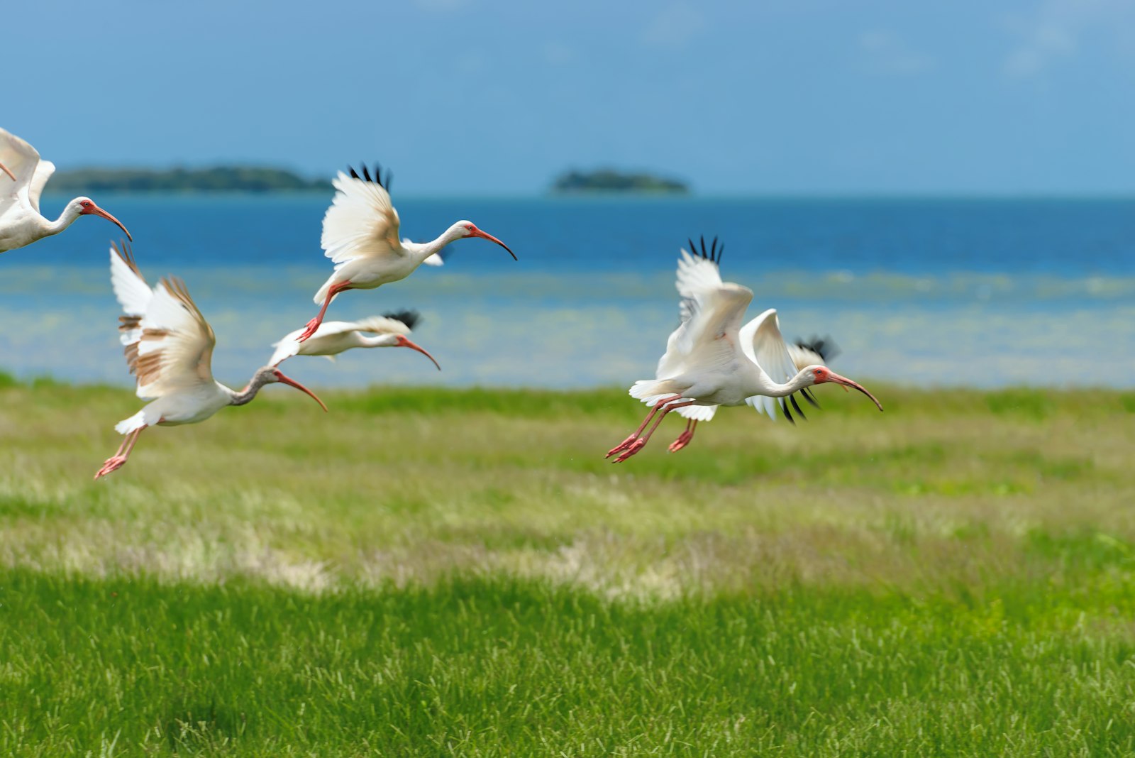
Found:
[[[753,290],[722,283],[720,277],[714,283],[706,267],[695,266],[693,256],[682,251],[679,278],[682,279],[684,268],[690,295],[682,309],[689,317],[670,336],[666,354],[658,362],[658,378],[636,381],[630,388],[631,397],[650,406],[650,412],[634,433],[607,452],[607,457],[621,453],[615,463],[631,457],[642,449],[667,413],[684,407],[748,404],[773,419],[780,411],[791,420],[788,410],[791,395],[825,382],[854,387],[883,410],[863,386],[827,367],[817,364],[798,370],[781,336],[775,309],[741,327]],[[682,290],[683,286],[679,288]],[[788,399],[777,404],[777,398]],[[792,403],[799,412],[799,405]],[[644,435],[655,415],[658,418],[654,426]],[[675,441],[681,441],[681,437]]]

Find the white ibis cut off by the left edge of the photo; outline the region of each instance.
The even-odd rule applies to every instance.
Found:
[[[133,239],[121,221],[90,197],[76,197],[67,203],[54,221],[44,218],[40,213],[40,195],[43,185],[56,172],[56,166],[40,160],[35,148],[5,129],[0,129],[0,168],[15,180],[10,185],[0,184],[0,253],[59,234],[79,216],[101,216],[117,224]]]

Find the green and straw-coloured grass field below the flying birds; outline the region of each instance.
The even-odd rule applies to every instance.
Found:
[[[1135,752],[1135,393],[3,385],[3,756]]]

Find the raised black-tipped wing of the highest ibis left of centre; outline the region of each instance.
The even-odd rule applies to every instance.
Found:
[[[331,179],[335,199],[323,216],[323,235],[320,244],[323,254],[338,269],[358,258],[401,256],[404,254],[398,242],[398,212],[390,204],[387,188],[382,186],[379,168],[375,167],[373,178],[363,166],[362,176],[352,168],[351,176],[339,171]]]

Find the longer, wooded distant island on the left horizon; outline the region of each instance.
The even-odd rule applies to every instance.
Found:
[[[58,171],[49,192],[312,192],[330,191],[325,179],[305,179],[280,168],[216,166],[212,168],[83,168]]]

